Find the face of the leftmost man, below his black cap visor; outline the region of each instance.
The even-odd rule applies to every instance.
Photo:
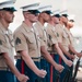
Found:
[[[7,23],[13,22],[14,13],[11,11],[3,11],[3,19]]]

